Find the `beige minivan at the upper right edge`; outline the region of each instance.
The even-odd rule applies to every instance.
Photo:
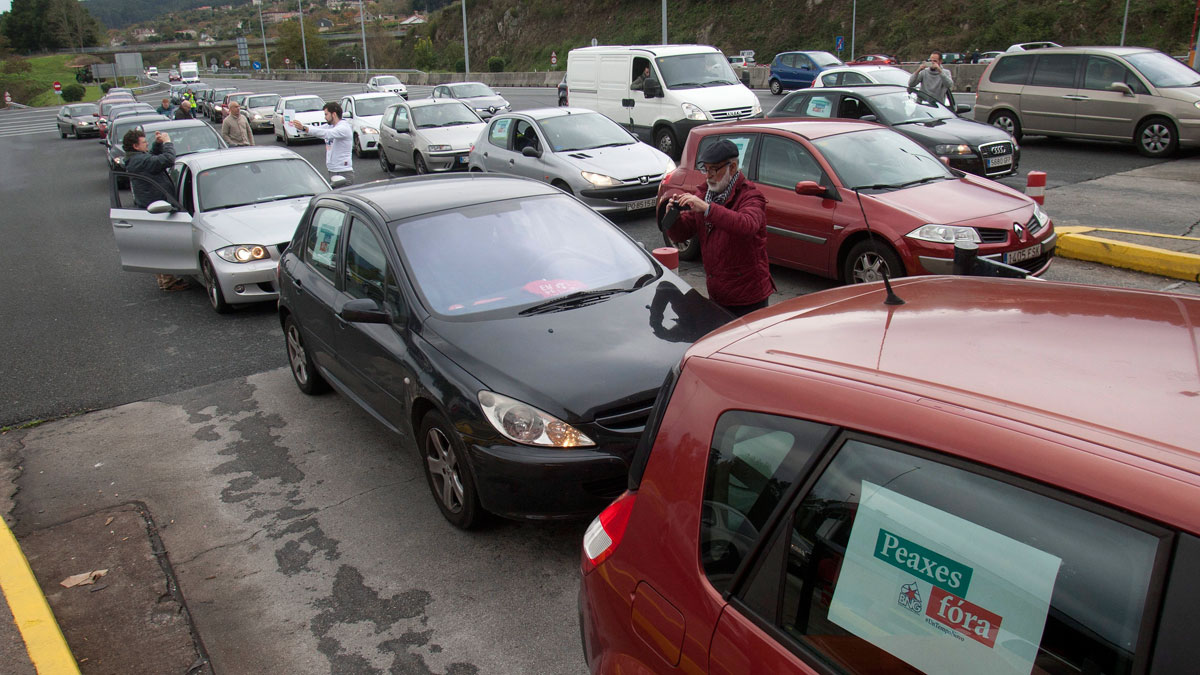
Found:
[[[1133,141],[1148,157],[1200,145],[1200,73],[1142,47],[1007,53],[988,65],[974,107],[1020,139]]]

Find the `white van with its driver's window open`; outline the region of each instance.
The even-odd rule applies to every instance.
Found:
[[[566,86],[571,106],[604,113],[676,160],[692,127],[762,117],[725,54],[700,44],[571,49]]]

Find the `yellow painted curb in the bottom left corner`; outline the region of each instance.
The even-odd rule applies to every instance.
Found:
[[[25,651],[38,675],[79,675],[71,647],[59,629],[42,587],[20,552],[17,538],[0,522],[0,589],[8,601],[13,622],[25,640]]]

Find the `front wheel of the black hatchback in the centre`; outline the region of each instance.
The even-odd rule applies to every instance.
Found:
[[[460,530],[480,525],[484,508],[458,432],[442,413],[431,411],[421,419],[418,438],[425,479],[442,515]]]

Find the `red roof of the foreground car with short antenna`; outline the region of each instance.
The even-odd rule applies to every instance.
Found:
[[[817,371],[1014,419],[1200,476],[1200,298],[961,276],[774,305],[689,354]]]

